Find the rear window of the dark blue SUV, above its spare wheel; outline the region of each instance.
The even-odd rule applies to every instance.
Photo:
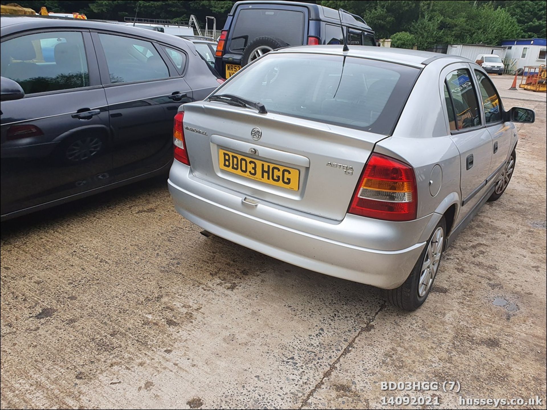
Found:
[[[304,41],[304,13],[295,10],[243,9],[237,15],[231,33],[230,51],[242,53],[247,44],[267,35],[288,45]]]

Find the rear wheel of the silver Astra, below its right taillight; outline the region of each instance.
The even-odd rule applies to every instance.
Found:
[[[423,305],[439,272],[445,238],[446,221],[442,217],[406,281],[398,288],[387,290],[389,304],[406,311],[414,311]]]

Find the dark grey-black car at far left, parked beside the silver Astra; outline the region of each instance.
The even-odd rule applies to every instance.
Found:
[[[167,172],[178,106],[221,81],[194,44],[168,34],[38,16],[1,22],[2,220]]]

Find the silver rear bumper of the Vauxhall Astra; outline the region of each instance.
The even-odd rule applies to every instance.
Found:
[[[302,268],[386,289],[406,280],[440,219],[433,213],[410,222],[353,215],[332,221],[265,202],[252,206],[242,202],[245,194],[199,179],[177,161],[168,188],[175,209],[215,235]],[[403,242],[410,243],[381,249]],[[374,243],[380,246],[364,246]]]

